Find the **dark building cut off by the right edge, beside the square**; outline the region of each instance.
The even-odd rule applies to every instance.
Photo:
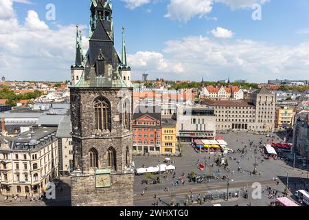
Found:
[[[297,153],[309,162],[309,111],[301,111],[295,116],[293,146]]]

